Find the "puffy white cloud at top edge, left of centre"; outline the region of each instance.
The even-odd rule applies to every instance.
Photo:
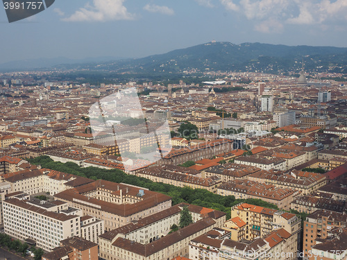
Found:
[[[134,19],[123,5],[124,0],[93,0],[92,6],[87,3],[63,21],[112,21]]]

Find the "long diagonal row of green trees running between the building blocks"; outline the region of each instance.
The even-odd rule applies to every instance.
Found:
[[[164,184],[162,182],[152,182],[144,177],[135,175],[128,175],[118,169],[105,170],[96,167],[81,168],[73,162],[53,162],[48,156],[40,156],[35,159],[28,159],[32,164],[40,164],[42,168],[49,168],[64,173],[71,173],[74,175],[88,177],[92,180],[108,180],[110,182],[123,182],[132,184],[139,187],[144,187],[151,191],[164,193],[172,198],[172,204],[176,205],[180,202],[186,202],[192,205],[201,207],[208,207],[224,211],[227,218],[230,218],[230,207],[237,205],[240,202],[246,202],[252,205],[261,207],[268,207],[271,209],[278,209],[276,205],[264,202],[259,199],[235,199],[235,196],[221,196],[205,189],[191,189],[189,187],[176,187],[171,184]]]

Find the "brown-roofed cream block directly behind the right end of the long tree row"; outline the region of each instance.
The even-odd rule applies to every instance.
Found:
[[[298,196],[298,191],[251,180],[232,180],[219,185],[217,194],[235,196],[235,199],[257,198],[273,203],[280,209],[289,210],[291,202]]]

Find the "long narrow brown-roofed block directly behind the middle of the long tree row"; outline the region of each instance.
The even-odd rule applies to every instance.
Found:
[[[141,171],[137,171],[135,174],[139,177],[152,180],[153,182],[162,182],[176,187],[206,189],[213,193],[217,192],[217,185],[221,184],[221,179],[218,176],[197,177],[179,173],[175,171],[175,169],[170,169],[162,165],[145,168]]]

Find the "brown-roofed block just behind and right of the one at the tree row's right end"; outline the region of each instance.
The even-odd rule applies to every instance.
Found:
[[[257,172],[248,176],[254,182],[273,184],[279,188],[290,188],[301,191],[302,195],[312,193],[326,183],[325,175],[292,170],[289,173],[275,174],[271,172]]]

